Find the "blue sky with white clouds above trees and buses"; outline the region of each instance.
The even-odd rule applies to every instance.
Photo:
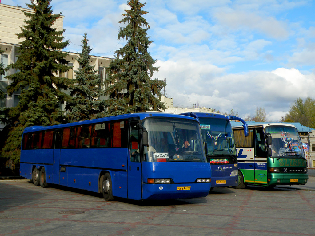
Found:
[[[52,0],[54,13],[65,16],[65,50],[80,51],[87,32],[91,54],[113,58],[126,43],[117,40],[126,3]],[[147,0],[149,52],[160,67],[153,78],[166,78],[176,105],[198,101],[242,118],[264,107],[278,121],[296,98],[315,98],[314,7],[311,0]]]

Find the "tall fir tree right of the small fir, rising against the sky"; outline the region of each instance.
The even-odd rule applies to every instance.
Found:
[[[128,24],[120,27],[118,32],[118,40],[125,38],[128,42],[115,51],[115,60],[106,72],[108,78],[105,84],[109,85],[105,90],[109,96],[106,100],[108,115],[165,110],[165,105],[160,101],[160,90],[165,82],[151,79],[158,68],[153,66],[156,60],[148,53],[153,41],[146,33],[150,26],[142,17],[148,12],[141,9],[145,4],[139,3],[139,0],[128,0],[128,5],[130,10],[125,10],[123,20],[119,21]]]

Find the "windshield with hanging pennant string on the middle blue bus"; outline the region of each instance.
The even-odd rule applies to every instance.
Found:
[[[208,146],[207,155],[235,155],[234,138],[229,120],[203,117],[199,117],[199,120],[203,141]]]

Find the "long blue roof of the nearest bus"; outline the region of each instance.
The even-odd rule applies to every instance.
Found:
[[[105,121],[112,121],[112,120],[123,120],[127,118],[132,118],[132,117],[139,117],[139,120],[143,120],[144,118],[147,118],[147,117],[173,117],[173,118],[182,118],[182,119],[197,121],[196,118],[193,118],[190,116],[152,111],[152,112],[142,112],[142,113],[131,113],[131,114],[125,114],[125,115],[114,115],[114,116],[108,116],[104,118],[93,119],[93,120],[77,121],[77,122],[53,125],[53,126],[29,126],[29,127],[26,127],[23,132],[39,131],[39,130],[46,130],[46,129],[58,129],[62,127],[84,125],[84,124],[89,124],[89,123],[98,123],[102,121],[105,122]]]

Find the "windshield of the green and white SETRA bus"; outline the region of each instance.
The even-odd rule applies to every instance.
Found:
[[[272,137],[272,157],[305,158],[301,139],[295,127],[267,126],[266,133]]]

